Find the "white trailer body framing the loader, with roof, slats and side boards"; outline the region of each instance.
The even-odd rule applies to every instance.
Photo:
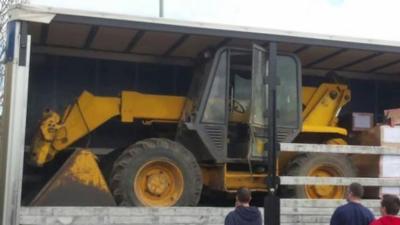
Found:
[[[215,208],[21,208],[21,185],[23,154],[26,134],[26,118],[29,93],[30,62],[33,54],[71,56],[90,59],[107,59],[128,62],[161,63],[175,65],[191,65],[201,50],[210,46],[223,44],[246,45],[252,42],[265,44],[277,42],[282,51],[298,54],[305,67],[305,75],[323,76],[332,69],[343,77],[362,80],[399,81],[400,42],[318,35],[291,31],[270,30],[252,27],[186,22],[165,18],[145,18],[130,15],[99,13],[81,10],[35,6],[21,4],[10,11],[9,45],[7,48],[5,78],[5,105],[3,115],[4,136],[1,137],[0,151],[0,223],[3,225],[36,225],[36,224],[220,224],[228,209]],[[46,26],[71,36],[45,33],[43,42],[40,34],[46,32]],[[81,25],[81,26],[80,26]],[[29,29],[26,26],[28,26]],[[37,28],[39,30],[37,30]],[[82,28],[83,27],[83,28]],[[85,36],[82,40],[76,32],[90,34],[90,30],[106,28],[115,29],[116,37],[124,37],[125,30],[133,30],[135,34],[149,37],[155,33],[173,34],[170,46],[163,52],[157,49],[141,50],[145,54],[135,52],[136,44],[156,44],[160,39],[148,39],[145,43],[133,43],[135,34],[128,37],[133,43],[132,51],[126,51],[118,45],[106,45],[98,40],[98,49],[87,48]],[[49,29],[48,27],[46,29]],[[69,30],[68,30],[69,29]],[[76,29],[76,30],[74,30]],[[49,30],[47,30],[49,32]],[[59,33],[58,33],[59,34]],[[74,36],[75,35],[75,36]],[[150,36],[146,36],[150,35]],[[65,40],[57,40],[64,38]],[[74,45],[82,47],[71,47]],[[100,38],[100,37],[99,37]],[[132,40],[131,40],[132,38]],[[78,40],[79,39],[79,40]],[[93,39],[93,37],[92,37]],[[147,39],[146,39],[147,40]],[[177,41],[181,40],[181,43]],[[51,45],[50,43],[58,43]],[[65,43],[62,45],[60,43]],[[89,43],[93,44],[93,43]],[[182,45],[185,45],[182,47]],[[105,47],[106,46],[106,47]],[[184,51],[194,49],[198,51]],[[89,46],[90,47],[90,46]],[[128,46],[129,47],[129,46]],[[180,49],[182,48],[182,49]],[[131,50],[131,49],[128,49]],[[151,54],[149,54],[149,52]],[[168,54],[167,54],[168,53]],[[314,67],[325,64],[326,68]],[[365,64],[365,69],[358,68]],[[308,65],[308,66],[307,66]],[[358,67],[357,67],[358,66]],[[341,69],[340,69],[341,68]],[[348,69],[358,68],[358,69]],[[326,154],[374,154],[400,155],[396,147],[364,147],[364,146],[326,146],[287,144],[281,145],[287,152],[318,152]],[[313,177],[281,177],[282,185],[333,184],[347,185],[357,181],[366,186],[400,186],[398,178],[313,178]],[[343,201],[336,200],[283,200],[282,222],[286,224],[327,224],[332,210]],[[367,201],[366,205],[377,213],[378,201]],[[320,207],[327,207],[323,210]],[[316,216],[318,215],[318,216]]]

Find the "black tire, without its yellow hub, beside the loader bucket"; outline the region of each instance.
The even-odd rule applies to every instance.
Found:
[[[202,191],[201,169],[191,152],[168,139],[150,138],[126,148],[114,162],[110,187],[119,205],[146,206],[135,194],[133,180],[139,169],[150,160],[168,160],[182,173],[183,192],[174,206],[195,206]]]

